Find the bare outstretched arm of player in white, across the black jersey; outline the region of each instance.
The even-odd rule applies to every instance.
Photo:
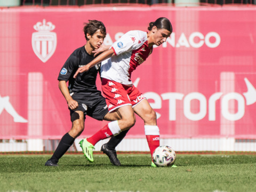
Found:
[[[84,67],[79,67],[73,77],[76,78],[78,73],[83,73],[84,71],[89,70],[91,67],[97,65],[98,63],[100,63],[101,61],[103,61],[105,59],[110,58],[112,55],[114,55],[113,49],[110,49],[108,51],[101,53],[97,58],[93,59],[90,63],[88,63]]]

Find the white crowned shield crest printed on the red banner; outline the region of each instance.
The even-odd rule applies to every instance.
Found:
[[[37,22],[34,29],[38,32],[32,34],[32,47],[36,56],[43,62],[50,59],[57,46],[57,35],[52,32],[55,26],[52,22]]]

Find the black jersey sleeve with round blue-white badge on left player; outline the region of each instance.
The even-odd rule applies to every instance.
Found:
[[[68,81],[69,78],[74,74],[74,70],[77,69],[77,67],[74,65],[76,63],[74,61],[74,57],[70,55],[70,57],[67,59],[67,61],[64,63],[63,67],[60,70],[58,80],[59,81]]]

